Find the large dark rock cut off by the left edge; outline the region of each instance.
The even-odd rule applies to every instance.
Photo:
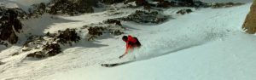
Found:
[[[1,9],[0,8],[0,40],[8,41],[15,44],[18,42],[18,37],[15,32],[20,32],[22,24],[20,19],[23,15],[17,9]]]

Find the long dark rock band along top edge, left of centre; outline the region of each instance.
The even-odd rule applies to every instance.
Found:
[[[95,0],[52,0],[50,3],[33,4],[29,9],[30,17],[38,17],[44,13],[77,15],[94,12]]]

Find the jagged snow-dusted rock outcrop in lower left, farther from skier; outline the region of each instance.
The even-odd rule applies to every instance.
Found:
[[[69,44],[79,42],[80,37],[74,29],[66,29],[65,31],[58,31],[58,33],[47,33],[44,36],[28,37],[26,43],[22,48],[22,52],[36,50],[28,54],[27,57],[32,58],[47,58],[61,53],[61,44]],[[19,53],[18,53],[19,54]]]

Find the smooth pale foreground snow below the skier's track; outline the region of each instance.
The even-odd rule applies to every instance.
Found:
[[[50,78],[51,80],[254,80],[255,64],[253,63],[256,55],[253,52],[256,43],[248,42],[255,39],[246,34],[236,34],[224,41],[207,43],[151,60],[113,68],[90,66],[61,72]]]

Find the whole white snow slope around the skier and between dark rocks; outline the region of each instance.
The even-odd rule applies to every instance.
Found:
[[[18,1],[18,0],[17,0]],[[122,22],[128,28],[125,35],[138,37],[141,49],[119,60],[125,50],[120,38],[103,35],[95,42],[82,40],[71,48],[44,60],[26,59],[26,54],[11,56],[19,45],[0,53],[0,80],[253,80],[255,37],[241,31],[250,3],[229,9],[194,9],[191,14],[179,15],[179,9],[166,9],[174,19],[160,25]],[[79,16],[54,16],[26,20],[26,32],[44,34],[66,28],[81,28],[131,14],[136,9],[119,9],[123,14],[109,15],[108,11]],[[110,13],[111,14],[111,13]],[[37,27],[30,27],[37,26]],[[80,35],[84,36],[86,31]],[[150,38],[149,38],[150,37]],[[102,63],[125,60],[136,62],[105,68]]]

